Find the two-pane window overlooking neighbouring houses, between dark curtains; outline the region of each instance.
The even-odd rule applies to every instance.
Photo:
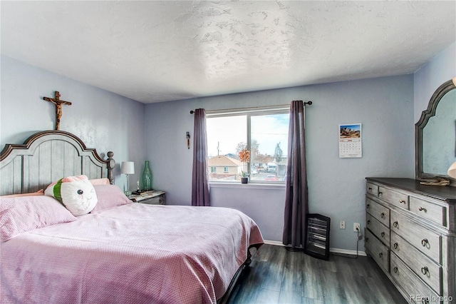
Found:
[[[248,171],[251,183],[284,183],[289,106],[208,111],[206,123],[209,181],[237,182]],[[243,148],[249,163],[239,161]]]

